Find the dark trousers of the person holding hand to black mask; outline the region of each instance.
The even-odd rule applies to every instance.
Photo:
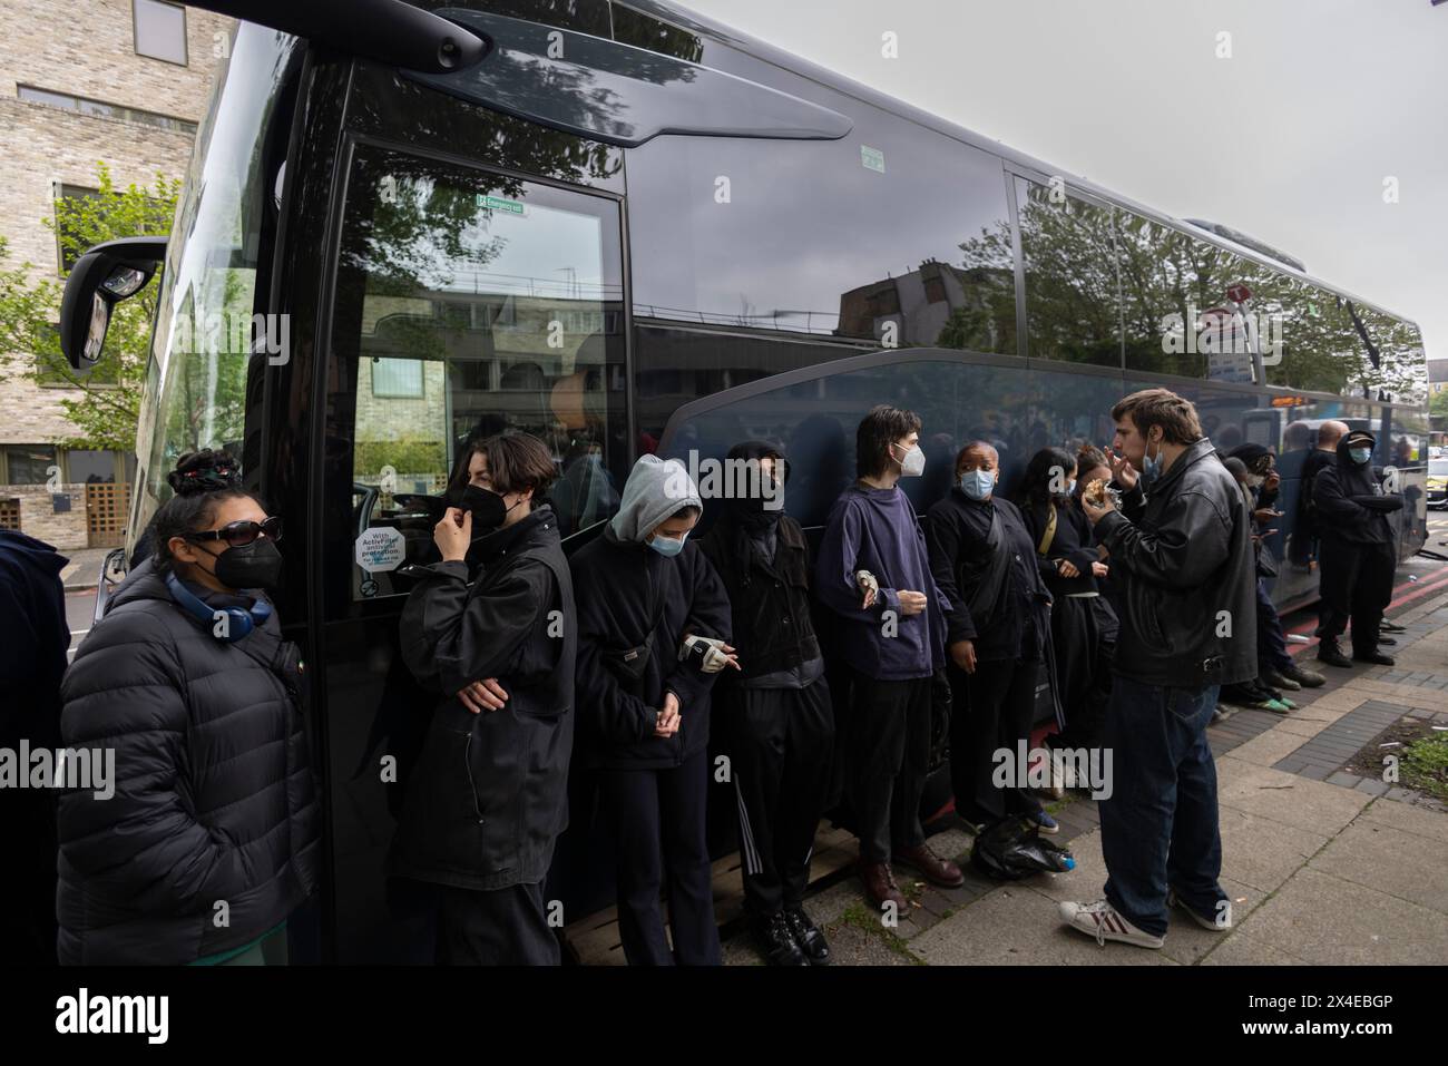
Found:
[[[487,892],[443,885],[440,892],[439,966],[557,966],[543,882]]]

